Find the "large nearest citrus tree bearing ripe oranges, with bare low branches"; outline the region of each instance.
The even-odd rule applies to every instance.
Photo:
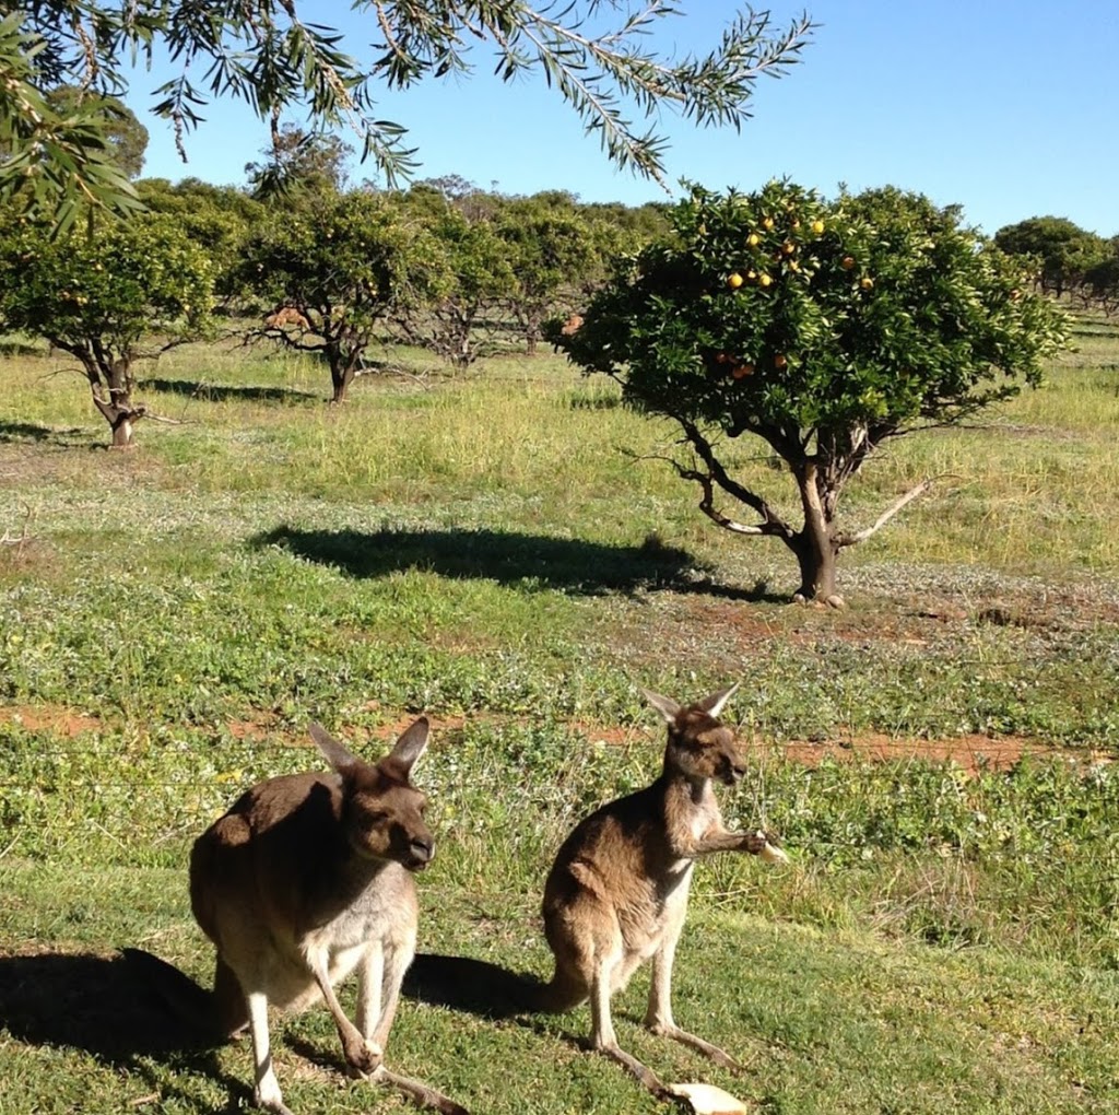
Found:
[[[780,538],[799,594],[838,605],[839,552],[929,481],[861,530],[839,521],[846,484],[887,439],[1036,385],[1064,318],[957,208],[893,188],[834,202],[782,181],[750,195],[693,188],[673,229],[618,268],[580,329],[551,337],[634,406],[675,419],[690,456],[671,460],[704,513]],[[791,475],[799,522],[725,465],[726,443],[747,434]]]

